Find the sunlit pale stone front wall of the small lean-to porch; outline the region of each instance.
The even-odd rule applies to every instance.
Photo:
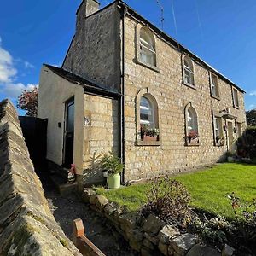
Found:
[[[119,102],[84,94],[84,117],[90,120],[84,125],[84,183],[100,183],[98,160],[105,153],[119,153]]]

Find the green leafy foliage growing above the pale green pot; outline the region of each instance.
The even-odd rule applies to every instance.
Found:
[[[121,163],[119,157],[113,153],[104,154],[100,161],[102,172],[108,171],[109,174],[117,174],[122,172],[125,165]]]

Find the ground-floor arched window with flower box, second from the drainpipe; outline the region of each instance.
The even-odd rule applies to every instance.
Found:
[[[198,120],[195,108],[192,107],[191,103],[185,108],[186,118],[186,143],[187,145],[193,145],[199,143],[199,132],[198,132]]]

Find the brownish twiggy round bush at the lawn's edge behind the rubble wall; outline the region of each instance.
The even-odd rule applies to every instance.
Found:
[[[154,180],[147,193],[148,203],[143,207],[143,214],[154,215],[167,223],[186,224],[190,219],[190,195],[182,183],[169,177]]]

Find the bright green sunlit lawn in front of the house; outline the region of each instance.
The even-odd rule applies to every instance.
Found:
[[[224,163],[198,172],[172,176],[182,182],[189,190],[191,207],[233,218],[230,201],[227,195],[236,192],[243,200],[256,198],[256,166],[245,164]],[[138,183],[129,187],[111,190],[109,193],[102,188],[97,193],[108,197],[120,206],[137,211],[147,201],[150,183]]]

